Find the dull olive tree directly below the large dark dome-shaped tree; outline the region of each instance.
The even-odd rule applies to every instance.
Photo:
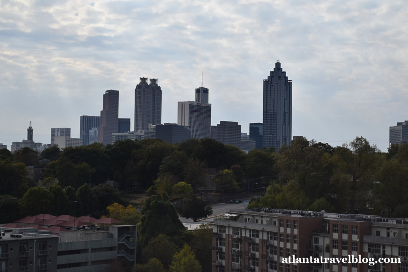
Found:
[[[168,268],[171,264],[172,256],[177,248],[168,236],[159,234],[156,238],[150,239],[142,251],[142,261],[148,262],[150,258],[156,258],[162,263],[162,267]]]

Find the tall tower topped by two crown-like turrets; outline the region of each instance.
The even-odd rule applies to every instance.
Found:
[[[139,78],[135,89],[135,127],[134,130],[148,130],[149,123],[156,125],[162,122],[162,89],[157,79]]]

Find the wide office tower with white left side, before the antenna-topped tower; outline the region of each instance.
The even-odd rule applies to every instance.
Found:
[[[191,128],[191,138],[211,138],[211,104],[179,102],[177,125]]]

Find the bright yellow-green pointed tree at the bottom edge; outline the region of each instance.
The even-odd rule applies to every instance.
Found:
[[[189,245],[185,244],[181,251],[173,255],[169,272],[201,272],[201,265]]]

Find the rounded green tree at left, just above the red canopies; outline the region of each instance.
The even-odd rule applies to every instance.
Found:
[[[51,213],[53,198],[53,194],[47,189],[32,187],[18,201],[18,206],[25,215],[33,216],[40,213]]]

